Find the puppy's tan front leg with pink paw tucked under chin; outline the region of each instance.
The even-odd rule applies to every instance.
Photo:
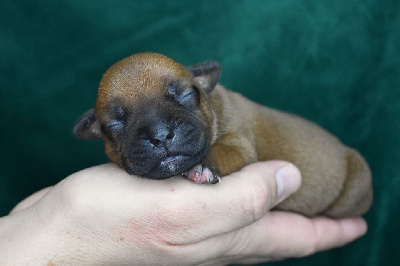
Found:
[[[238,134],[226,134],[210,147],[201,164],[183,175],[195,183],[215,184],[220,181],[220,176],[236,172],[256,161],[256,150],[248,139]]]

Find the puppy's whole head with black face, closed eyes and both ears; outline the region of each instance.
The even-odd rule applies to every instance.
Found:
[[[154,53],[125,58],[104,74],[96,107],[74,135],[104,139],[108,157],[130,174],[180,174],[207,153],[214,120],[208,94],[219,73],[217,62],[186,68]]]

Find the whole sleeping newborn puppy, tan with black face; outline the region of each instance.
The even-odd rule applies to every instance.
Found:
[[[285,160],[298,166],[302,185],[276,209],[343,217],[370,208],[371,173],[359,153],[309,121],[225,89],[220,69],[132,55],[104,74],[95,109],[73,132],[103,139],[110,160],[130,174],[217,183],[247,164]]]

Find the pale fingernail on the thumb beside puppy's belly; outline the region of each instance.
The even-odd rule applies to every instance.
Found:
[[[295,192],[301,183],[299,169],[293,164],[287,164],[276,172],[277,204]]]

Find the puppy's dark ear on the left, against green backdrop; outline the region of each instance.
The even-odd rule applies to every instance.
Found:
[[[100,123],[94,109],[88,110],[78,119],[72,133],[79,139],[101,139]]]

